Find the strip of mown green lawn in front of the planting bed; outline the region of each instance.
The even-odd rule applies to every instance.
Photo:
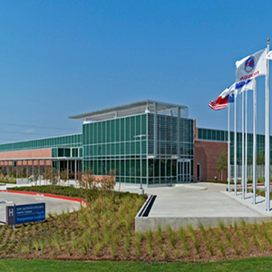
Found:
[[[163,262],[112,262],[112,261],[59,261],[1,259],[2,272],[67,272],[67,271],[271,271],[272,257],[252,257],[208,263],[163,263]]]

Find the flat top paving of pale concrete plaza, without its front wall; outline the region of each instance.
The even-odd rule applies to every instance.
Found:
[[[241,193],[227,191],[228,186],[215,183],[188,183],[174,187],[144,188],[147,194],[157,195],[150,217],[264,217],[272,216],[266,211],[265,198],[257,196],[252,205],[252,194],[241,199]],[[119,189],[119,185],[115,186]],[[121,184],[122,191],[140,193],[138,186]]]

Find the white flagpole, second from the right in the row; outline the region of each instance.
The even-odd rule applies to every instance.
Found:
[[[256,133],[256,123],[257,123],[257,92],[256,92],[256,79],[254,78],[254,88],[253,88],[253,163],[252,163],[252,187],[253,187],[253,198],[252,204],[256,204],[256,167],[257,167],[257,133]]]

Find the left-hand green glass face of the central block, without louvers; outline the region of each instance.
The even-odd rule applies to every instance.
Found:
[[[147,182],[147,114],[83,124],[83,170],[114,171],[116,181]],[[142,165],[142,173],[141,173]]]

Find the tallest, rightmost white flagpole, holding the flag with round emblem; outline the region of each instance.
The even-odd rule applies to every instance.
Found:
[[[267,39],[267,53],[270,49],[270,39]],[[269,105],[269,61],[267,60],[267,74],[266,74],[266,199],[267,211],[270,210],[270,105]]]

